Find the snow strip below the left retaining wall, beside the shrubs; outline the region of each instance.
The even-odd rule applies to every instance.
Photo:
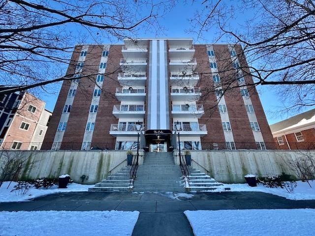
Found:
[[[0,202],[20,202],[20,201],[26,201],[35,197],[40,197],[48,194],[53,193],[65,193],[65,192],[85,192],[88,191],[89,188],[94,187],[94,184],[88,185],[88,184],[79,184],[79,183],[70,183],[67,185],[67,188],[58,188],[57,185],[48,188],[48,189],[36,189],[31,188],[30,191],[24,195],[24,196],[18,196],[16,194],[16,191],[10,192],[14,185],[16,185],[16,182],[11,182],[8,189],[7,186],[10,182],[4,182],[2,186],[0,187]]]

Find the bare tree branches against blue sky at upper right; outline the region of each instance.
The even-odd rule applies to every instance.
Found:
[[[214,42],[242,46],[237,69],[219,68],[224,91],[270,85],[281,94],[285,110],[315,105],[314,0],[204,0],[189,21],[188,32],[197,41],[212,32]],[[237,83],[239,74],[253,82]]]

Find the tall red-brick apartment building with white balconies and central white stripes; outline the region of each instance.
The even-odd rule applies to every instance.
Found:
[[[66,75],[95,75],[63,82],[46,148],[136,148],[141,124],[141,146],[167,151],[177,145],[180,122],[182,148],[265,149],[274,140],[256,90],[221,94],[218,86],[225,76],[218,68],[246,63],[240,45],[194,45],[187,38],[77,46]],[[241,75],[233,85],[244,82],[252,77]]]

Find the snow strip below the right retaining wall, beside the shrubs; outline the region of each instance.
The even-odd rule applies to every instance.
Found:
[[[296,181],[296,183],[297,187],[293,193],[287,192],[284,188],[269,188],[261,184],[250,187],[247,183],[223,184],[218,189],[209,192],[223,192],[224,188],[230,188],[231,192],[264,192],[291,200],[315,200],[315,180],[310,181],[312,187],[307,182]]]

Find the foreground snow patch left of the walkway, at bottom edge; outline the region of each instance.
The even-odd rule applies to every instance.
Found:
[[[0,212],[3,236],[131,236],[139,211]]]

